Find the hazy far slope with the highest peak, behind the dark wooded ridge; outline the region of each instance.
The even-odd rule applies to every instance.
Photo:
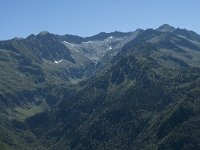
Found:
[[[164,30],[164,27],[166,27],[166,25],[160,28]],[[140,32],[137,38],[126,44],[123,49],[128,53],[128,49],[130,49],[132,45],[144,41],[158,49],[151,57],[165,67],[199,67],[200,44],[197,39],[200,38],[197,38],[198,35],[193,33],[193,37],[188,36],[192,32],[183,30],[185,32],[183,36],[179,34],[181,29],[174,28],[174,30],[170,30],[169,32],[168,28],[170,27],[167,26],[164,30],[166,32],[153,29]],[[196,40],[194,40],[194,38]]]

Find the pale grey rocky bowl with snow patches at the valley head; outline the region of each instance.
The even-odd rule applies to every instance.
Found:
[[[95,63],[102,62],[102,58],[106,55],[112,57],[116,55],[123,45],[135,38],[137,32],[112,32],[112,33],[99,33],[92,37],[84,38],[84,41],[77,44],[70,41],[64,41],[65,45],[71,52],[80,53]]]

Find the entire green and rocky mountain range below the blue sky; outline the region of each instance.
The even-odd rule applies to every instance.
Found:
[[[0,41],[0,149],[200,149],[200,35],[162,25]]]

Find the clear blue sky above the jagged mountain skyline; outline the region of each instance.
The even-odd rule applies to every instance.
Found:
[[[90,36],[164,23],[200,33],[200,0],[0,0],[0,40],[40,31]]]

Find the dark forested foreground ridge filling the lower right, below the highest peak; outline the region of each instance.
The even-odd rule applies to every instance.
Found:
[[[49,131],[39,134],[42,143],[48,137],[59,141],[46,143],[51,149],[198,148],[193,130],[194,141],[184,142],[189,134],[179,139],[174,129],[183,130],[180,124],[198,116],[198,99],[184,106],[188,98],[183,93],[199,83],[200,69],[165,68],[149,57],[156,51],[148,43],[134,45],[132,54],[117,56],[78,93],[65,94],[51,124],[44,127]],[[32,131],[38,134],[34,126]],[[173,134],[178,141],[165,140]]]

